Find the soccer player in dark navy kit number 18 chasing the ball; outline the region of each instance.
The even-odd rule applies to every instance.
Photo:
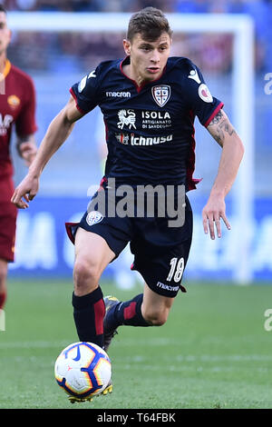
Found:
[[[131,16],[123,41],[125,59],[103,62],[73,85],[68,104],[53,119],[34,163],[15,189],[16,206],[28,207],[45,164],[73,124],[99,105],[109,153],[101,192],[110,191],[112,179],[116,191],[123,184],[133,189],[184,185],[186,192],[195,188],[193,124],[198,116],[222,147],[218,174],[202,212],[204,232],[211,239],[220,237],[221,220],[230,228],[225,196],[238,173],[243,144],[223,104],[209,93],[199,68],[188,58],[170,57],[171,36],[160,10],[147,7]],[[151,218],[107,216],[95,209],[88,209],[79,224],[67,224],[75,246],[73,315],[80,341],[108,351],[119,326],[160,326],[167,321],[175,296],[179,290],[186,292],[181,280],[189,256],[192,214],[187,196],[185,201],[182,226],[170,227],[169,217],[160,217],[157,211]],[[103,298],[99,281],[127,243],[134,254],[132,268],[145,284],[143,293],[121,303],[114,297]]]

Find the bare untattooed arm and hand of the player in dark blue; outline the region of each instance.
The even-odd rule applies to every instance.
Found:
[[[29,167],[28,174],[15,188],[15,193],[11,201],[18,208],[27,208],[28,202],[34,199],[39,189],[39,178],[44,170],[44,166],[62,146],[69,134],[71,134],[74,123],[83,117],[83,115],[78,110],[73,96],[71,96],[63,110],[54,117],[44,135],[34,161]]]

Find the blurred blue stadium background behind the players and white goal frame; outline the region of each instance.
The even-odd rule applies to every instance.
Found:
[[[161,8],[165,13],[209,14],[214,22],[221,14],[248,15],[255,25],[255,82],[254,82],[254,167],[251,174],[254,186],[253,221],[248,224],[250,274],[248,281],[272,279],[272,94],[265,93],[265,76],[272,73],[272,2],[265,0],[186,1],[186,0],[7,0],[4,5],[12,21],[12,12],[42,12],[45,15],[65,12],[76,13],[132,13],[146,5]],[[90,25],[92,22],[90,21]],[[12,27],[12,25],[11,25]],[[104,59],[123,57],[123,34],[103,31],[87,32],[27,32],[13,31],[8,56],[34,78],[37,91],[36,139],[40,144],[53,116],[59,112],[69,97],[71,85],[91,71]],[[225,103],[232,118],[232,52],[233,37],[229,34],[174,34],[172,55],[188,56],[202,70],[211,93]],[[243,75],[240,76],[243,79]],[[248,87],[248,91],[251,88]],[[270,91],[271,92],[271,91]],[[246,109],[241,104],[239,108]],[[249,124],[248,124],[249,125]],[[102,176],[102,151],[104,130],[98,109],[76,124],[73,134],[53,157],[44,171],[40,193],[29,210],[20,212],[17,226],[16,262],[10,265],[10,278],[48,277],[71,278],[73,245],[66,237],[65,221],[80,218],[88,204],[88,188],[97,185]],[[241,219],[232,192],[228,197],[228,217],[232,232],[224,231],[223,238],[211,242],[202,231],[201,208],[205,204],[210,186],[217,173],[219,147],[205,129],[196,123],[197,164],[196,177],[202,177],[199,188],[189,193],[195,211],[194,240],[186,280],[236,281],[238,242],[243,239]],[[245,141],[247,147],[247,141]],[[21,160],[15,158],[15,182],[26,173]],[[250,174],[250,171],[249,171]],[[252,186],[248,175],[248,185]],[[248,188],[245,187],[245,191]],[[243,194],[244,189],[239,189]],[[237,194],[237,193],[236,193]],[[252,213],[248,212],[248,216]],[[242,234],[242,235],[241,235]],[[125,260],[112,263],[104,273],[106,279],[123,273],[118,281],[123,287],[134,283],[135,273],[130,272],[130,254]],[[124,266],[124,270],[123,270]],[[133,277],[131,278],[131,274]]]

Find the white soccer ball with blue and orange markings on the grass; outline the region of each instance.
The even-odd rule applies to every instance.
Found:
[[[109,384],[112,363],[94,343],[73,343],[64,348],[54,364],[56,382],[77,399],[92,398]]]

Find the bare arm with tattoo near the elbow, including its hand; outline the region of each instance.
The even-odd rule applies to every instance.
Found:
[[[218,237],[221,237],[221,218],[228,230],[230,229],[226,216],[225,197],[238,174],[238,167],[244,154],[244,145],[223,110],[219,110],[207,129],[222,147],[218,174],[211,188],[209,200],[202,211],[204,232],[209,233],[210,238],[214,239],[215,228]]]

